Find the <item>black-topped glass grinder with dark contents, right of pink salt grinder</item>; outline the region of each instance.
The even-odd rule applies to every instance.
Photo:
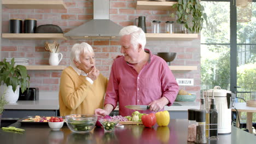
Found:
[[[196,111],[196,139],[195,143],[206,143],[205,136],[205,113],[206,110],[197,110]]]

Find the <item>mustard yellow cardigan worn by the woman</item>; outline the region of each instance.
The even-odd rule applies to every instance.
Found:
[[[94,114],[103,108],[108,79],[98,75],[93,84],[78,75],[72,67],[62,71],[59,91],[60,115]]]

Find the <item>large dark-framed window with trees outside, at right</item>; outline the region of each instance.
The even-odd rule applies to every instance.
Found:
[[[207,14],[201,32],[202,89],[218,85],[237,97],[256,100],[256,1],[250,22],[236,22],[235,1],[201,3]]]

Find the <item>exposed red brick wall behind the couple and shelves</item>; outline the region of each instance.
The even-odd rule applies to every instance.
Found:
[[[67,9],[2,9],[2,33],[9,33],[9,19],[37,19],[37,26],[45,24],[58,25],[64,32],[80,26],[93,18],[92,0],[64,0]],[[135,0],[110,0],[110,20],[121,26],[134,25],[135,18],[146,16],[147,31],[152,32],[151,22],[160,20],[162,30],[165,21],[174,21],[168,17],[169,11],[136,10]],[[48,65],[49,52],[44,50],[44,43],[53,40],[9,40],[2,39],[2,58],[28,58],[30,65]],[[96,67],[105,76],[109,76],[113,58],[120,55],[117,40],[57,40],[63,59],[60,65],[69,65],[69,52],[75,43],[92,45],[96,55]],[[176,78],[193,78],[194,86],[183,86],[188,92],[199,97],[200,93],[200,39],[147,41],[147,49],[157,52],[177,52],[172,65],[196,65],[198,70],[173,71]],[[61,70],[30,70],[31,87],[40,91],[59,91]]]

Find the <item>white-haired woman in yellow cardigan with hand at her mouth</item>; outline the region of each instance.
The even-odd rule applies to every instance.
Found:
[[[71,66],[61,74],[60,115],[94,114],[95,109],[103,108],[108,80],[96,69],[89,44],[74,44],[70,59]]]

